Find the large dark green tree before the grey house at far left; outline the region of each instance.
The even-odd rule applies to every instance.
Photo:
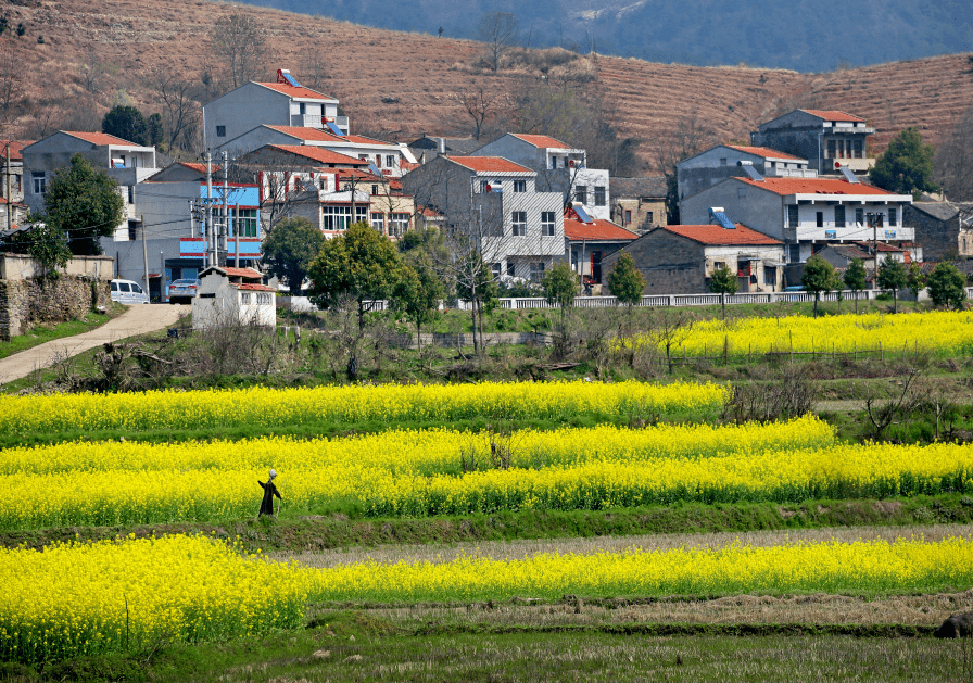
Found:
[[[64,236],[73,254],[101,254],[99,238],[111,236],[125,217],[118,184],[80,154],[54,174],[43,200],[41,219]]]

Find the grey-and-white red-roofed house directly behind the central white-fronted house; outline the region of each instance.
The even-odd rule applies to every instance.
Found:
[[[593,217],[611,220],[608,172],[587,167],[587,152],[543,135],[508,132],[473,156],[502,156],[536,172],[538,189],[560,192],[564,205],[577,202]]]

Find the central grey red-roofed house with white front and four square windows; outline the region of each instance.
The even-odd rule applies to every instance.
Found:
[[[538,280],[565,257],[564,194],[539,187],[538,176],[500,156],[438,156],[402,185],[442,213],[457,249],[476,250],[496,277]]]

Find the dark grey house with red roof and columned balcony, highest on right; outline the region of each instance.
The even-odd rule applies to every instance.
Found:
[[[856,172],[874,166],[867,144],[874,132],[864,118],[847,112],[799,109],[761,124],[750,141],[806,159],[810,168],[824,175],[837,174],[839,166]]]

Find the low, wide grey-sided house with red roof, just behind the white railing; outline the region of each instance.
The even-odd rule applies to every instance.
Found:
[[[784,243],[743,224],[667,225],[646,232],[602,260],[610,273],[630,254],[645,278],[646,294],[709,291],[717,268],[736,273],[741,292],[774,292],[783,287]]]

